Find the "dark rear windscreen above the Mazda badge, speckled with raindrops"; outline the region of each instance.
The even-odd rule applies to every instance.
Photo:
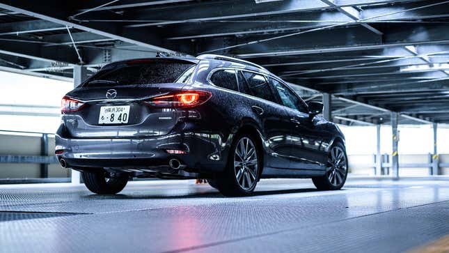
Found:
[[[100,70],[84,86],[184,83],[193,74],[195,66],[194,63],[175,61],[130,63]]]

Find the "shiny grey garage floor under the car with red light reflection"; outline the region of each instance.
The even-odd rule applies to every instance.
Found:
[[[449,181],[261,181],[225,198],[193,181],[1,185],[0,252],[404,252],[449,234]]]

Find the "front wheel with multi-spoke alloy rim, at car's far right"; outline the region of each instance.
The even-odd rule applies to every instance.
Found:
[[[330,162],[333,160],[333,151],[342,152],[339,164]],[[336,156],[336,155],[334,155]],[[345,185],[347,178],[347,155],[346,148],[341,142],[333,144],[329,149],[328,162],[326,164],[326,174],[324,176],[313,177],[312,181],[318,190],[340,190]]]

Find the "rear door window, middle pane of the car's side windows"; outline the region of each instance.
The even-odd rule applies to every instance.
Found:
[[[271,93],[271,88],[267,82],[267,79],[263,75],[259,75],[253,72],[243,71],[244,79],[248,84],[249,93],[258,98],[276,102],[276,98]]]

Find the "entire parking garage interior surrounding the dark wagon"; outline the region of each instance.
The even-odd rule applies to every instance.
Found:
[[[102,66],[256,63],[346,136],[342,190],[194,180],[88,192],[54,156],[60,99]],[[449,1],[0,1],[0,252],[448,252]],[[54,124],[54,125],[53,125]]]

